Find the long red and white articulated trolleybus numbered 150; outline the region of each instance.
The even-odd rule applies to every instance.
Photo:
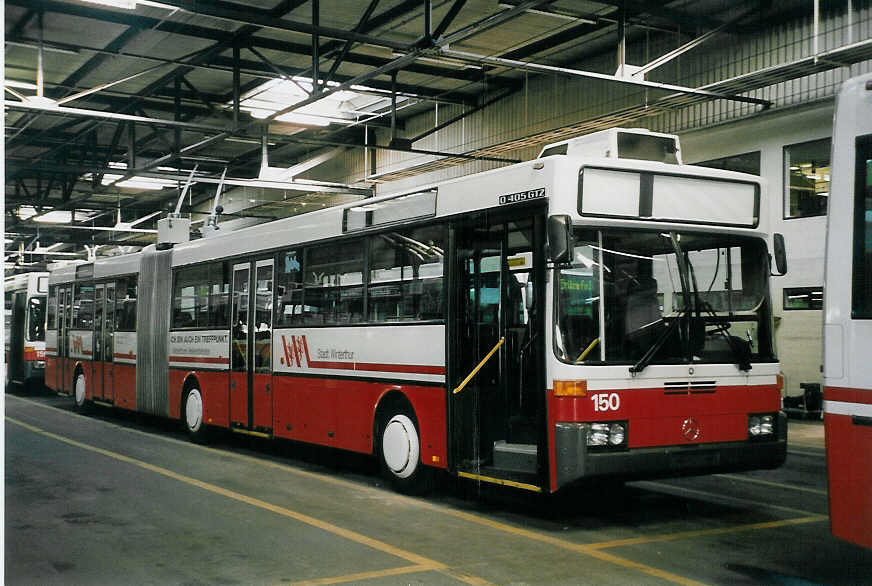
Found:
[[[763,197],[682,165],[675,136],[612,129],[98,259],[52,274],[49,384],[195,439],[373,453],[401,490],[433,469],[551,492],[776,467]]]

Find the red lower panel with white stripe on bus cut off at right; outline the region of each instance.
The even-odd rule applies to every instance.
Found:
[[[872,548],[872,417],[852,414],[872,412],[872,391],[827,388],[824,400],[832,532]]]

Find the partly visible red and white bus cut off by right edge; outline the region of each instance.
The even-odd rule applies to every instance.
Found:
[[[836,101],[824,286],[830,522],[872,548],[872,75]]]

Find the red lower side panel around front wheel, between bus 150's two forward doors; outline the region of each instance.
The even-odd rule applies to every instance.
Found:
[[[446,465],[444,387],[291,376],[273,380],[273,433],[277,437],[369,454],[379,399],[396,390],[415,410],[421,461],[440,468]]]

